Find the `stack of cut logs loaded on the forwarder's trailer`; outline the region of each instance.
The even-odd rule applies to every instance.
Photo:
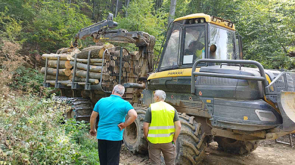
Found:
[[[66,86],[71,86],[73,79],[73,66],[76,59],[75,82],[80,85],[85,85],[87,75],[88,54],[91,51],[89,64],[89,83],[97,84],[102,72],[102,58],[106,49],[114,48],[114,45],[92,46],[83,49],[81,52],[77,48],[63,48],[57,54],[43,54],[42,58],[48,58],[46,82],[52,85],[55,84],[57,63],[59,56],[59,83]],[[41,68],[41,73],[45,73],[45,67]]]

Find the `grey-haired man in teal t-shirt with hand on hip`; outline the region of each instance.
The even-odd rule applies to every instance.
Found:
[[[121,98],[124,92],[124,86],[116,85],[110,97],[102,98],[95,104],[90,117],[90,135],[95,136],[96,117],[99,114],[96,138],[100,165],[119,165],[123,129],[137,117],[131,104]],[[126,114],[129,118],[125,121]]]

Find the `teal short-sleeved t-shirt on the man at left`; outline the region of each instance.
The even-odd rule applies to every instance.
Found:
[[[94,106],[99,113],[97,139],[118,141],[123,139],[123,131],[118,124],[125,122],[125,116],[132,110],[131,104],[120,96],[111,95],[100,99]]]

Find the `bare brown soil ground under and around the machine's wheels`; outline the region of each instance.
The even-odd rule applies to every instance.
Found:
[[[278,138],[289,141],[289,136]],[[295,145],[295,137],[293,137]],[[148,155],[133,155],[122,145],[119,165],[149,165]],[[206,156],[199,165],[295,165],[295,147],[275,143],[274,140],[263,140],[260,146],[248,155],[233,155],[218,150],[214,141],[208,144]]]

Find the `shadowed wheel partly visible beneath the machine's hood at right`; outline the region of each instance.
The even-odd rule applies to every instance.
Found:
[[[233,138],[215,137],[218,148],[232,154],[248,154],[259,146],[259,140],[241,141]]]

